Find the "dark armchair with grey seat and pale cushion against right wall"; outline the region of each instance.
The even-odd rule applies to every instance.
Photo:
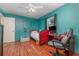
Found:
[[[52,43],[52,44],[49,44]],[[65,55],[70,55],[70,52],[72,52],[73,50],[73,30],[70,29],[67,34],[61,39],[61,40],[55,40],[53,39],[52,41],[50,41],[48,44],[50,46],[53,46],[54,48],[56,48],[56,52],[52,53],[54,55],[61,55],[58,52],[58,49],[64,50]]]

